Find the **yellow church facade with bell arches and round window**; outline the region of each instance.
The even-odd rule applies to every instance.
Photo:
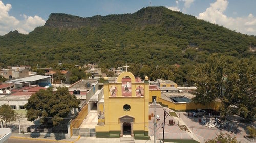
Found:
[[[148,139],[148,77],[142,82],[131,72],[121,73],[115,83],[104,78],[104,99],[98,103],[100,113],[96,137]]]

